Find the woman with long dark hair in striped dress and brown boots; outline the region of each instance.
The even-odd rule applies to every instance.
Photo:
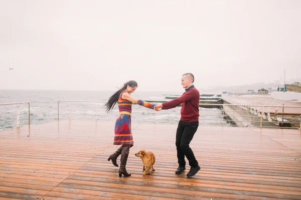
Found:
[[[113,109],[114,105],[118,102],[119,116],[116,119],[115,123],[115,136],[114,143],[115,145],[121,146],[111,154],[108,160],[112,160],[112,163],[115,166],[118,166],[116,160],[117,157],[121,154],[120,158],[120,167],[119,167],[119,177],[123,174],[124,176],[130,176],[130,173],[127,173],[125,169],[129,148],[133,146],[133,136],[131,134],[131,107],[133,102],[150,109],[154,109],[154,103],[148,103],[143,100],[136,99],[130,94],[134,92],[138,84],[134,80],[127,81],[124,83],[123,87],[116,91],[105,104],[106,111],[109,112]]]

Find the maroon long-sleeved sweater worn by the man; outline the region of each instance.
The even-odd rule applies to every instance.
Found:
[[[179,98],[162,103],[162,109],[174,108],[182,103],[181,120],[185,122],[199,121],[200,92],[195,87],[189,88]]]

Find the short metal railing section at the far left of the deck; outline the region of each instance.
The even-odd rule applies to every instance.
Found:
[[[5,114],[5,115],[0,115],[0,118],[11,118],[12,116],[16,116],[16,119],[9,119],[9,120],[1,120],[0,123],[1,124],[6,124],[8,122],[12,122],[16,120],[16,124],[10,124],[10,125],[6,125],[6,126],[0,126],[0,129],[3,128],[7,128],[7,127],[12,127],[12,126],[16,126],[16,127],[20,127],[21,125],[24,125],[26,123],[20,123],[20,120],[22,120],[23,118],[20,118],[20,115],[24,114],[24,113],[20,113],[21,112],[21,108],[23,104],[28,104],[28,124],[30,125],[30,103],[29,102],[15,102],[15,103],[0,103],[0,105],[5,106],[5,105],[17,105],[17,104],[21,104],[19,109],[13,109],[13,110],[0,110],[0,114],[1,113],[9,113],[9,114]],[[11,112],[18,112],[16,114],[10,114]]]

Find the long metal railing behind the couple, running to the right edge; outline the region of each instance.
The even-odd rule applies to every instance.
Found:
[[[60,102],[67,102],[67,106],[60,107]],[[72,107],[70,103],[87,103],[75,105]],[[106,101],[87,101],[87,100],[59,100],[58,101],[58,120],[60,113],[68,115],[68,118],[77,119],[95,119],[97,120],[115,120],[119,112],[116,109],[114,112],[107,114],[104,110],[104,103]],[[92,104],[94,103],[94,104]],[[200,103],[200,105],[218,105],[218,108],[201,108],[200,110],[200,124],[203,125],[231,125],[231,126],[247,126],[247,127],[283,127],[283,128],[299,128],[301,113],[299,116],[289,115],[284,112],[284,107],[300,108],[301,106],[284,106],[284,105],[258,105],[258,104],[207,104]],[[271,112],[273,108],[273,112]],[[277,109],[274,109],[277,108]],[[278,111],[282,108],[282,111]],[[87,109],[90,111],[87,112]],[[135,110],[135,109],[134,109]],[[64,112],[65,111],[65,112]],[[162,111],[132,111],[132,118],[136,121],[147,122],[168,122],[177,123],[180,119],[180,109],[178,113],[168,113],[166,110]],[[63,112],[63,113],[62,113]]]

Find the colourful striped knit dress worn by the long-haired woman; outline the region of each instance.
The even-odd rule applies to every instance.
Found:
[[[131,107],[132,102],[122,99],[121,95],[123,92],[126,92],[123,90],[118,98],[118,109],[119,109],[119,116],[116,119],[115,123],[115,136],[114,136],[114,142],[115,145],[120,144],[133,144],[133,136],[131,133]],[[153,109],[156,104],[154,103],[148,103],[143,100],[137,100],[136,102],[139,105],[142,105],[144,107],[148,107]]]

